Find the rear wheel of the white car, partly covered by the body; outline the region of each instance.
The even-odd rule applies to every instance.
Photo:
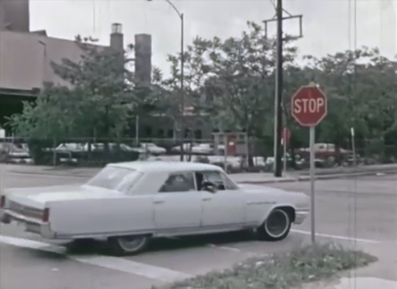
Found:
[[[108,239],[111,254],[116,256],[138,254],[146,249],[149,236],[119,236]]]

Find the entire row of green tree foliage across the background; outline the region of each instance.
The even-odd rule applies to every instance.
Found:
[[[350,128],[359,140],[395,142],[397,138],[397,62],[376,48],[345,50],[333,55],[297,59],[293,37],[284,37],[284,123],[293,147],[307,145],[307,130],[290,116],[290,97],[297,88],[315,82],[329,98],[329,113],[317,127],[318,140],[347,147]],[[150,88],[136,89],[130,61],[113,50],[77,37],[79,62],[64,59],[53,69],[71,86],[48,86],[35,104],[10,120],[21,136],[119,136],[131,115],[151,111],[181,124],[181,53],[169,55],[170,75],[153,69]],[[91,41],[91,42],[90,42]],[[248,22],[239,37],[203,39],[188,45],[185,61],[185,106],[211,116],[214,129],[243,130],[248,136],[272,139],[276,43],[264,28]],[[194,129],[200,118],[184,118]],[[394,137],[395,136],[395,137]],[[397,144],[396,144],[397,145]]]

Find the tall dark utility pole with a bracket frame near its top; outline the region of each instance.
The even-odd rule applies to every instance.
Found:
[[[274,5],[274,4],[273,4]],[[283,149],[281,147],[282,138],[282,113],[283,113],[283,21],[286,19],[299,19],[299,36],[296,38],[303,37],[302,35],[302,15],[290,15],[289,12],[284,10],[282,0],[277,0],[277,5],[275,6],[276,15],[272,19],[264,21],[265,24],[265,37],[268,35],[268,23],[271,21],[277,21],[277,61],[276,61],[276,84],[275,84],[275,129],[274,129],[274,174],[276,177],[282,176],[282,162],[281,156]],[[283,11],[288,14],[288,17],[283,17]]]

